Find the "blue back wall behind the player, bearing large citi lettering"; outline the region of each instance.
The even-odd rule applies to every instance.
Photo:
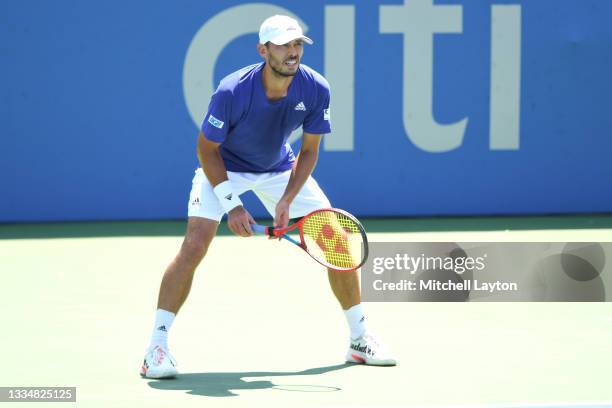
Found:
[[[315,171],[335,206],[360,216],[612,211],[612,2],[429,3],[0,2],[0,222],[184,217],[202,96],[259,59],[261,20],[232,13],[272,6],[307,24],[315,45],[303,62],[337,96],[325,136],[337,143],[326,141]],[[198,45],[219,16],[237,34]],[[207,41],[216,61],[197,60]]]

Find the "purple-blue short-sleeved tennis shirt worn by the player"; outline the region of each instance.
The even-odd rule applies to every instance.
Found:
[[[263,87],[265,63],[242,68],[221,80],[202,123],[208,140],[221,143],[228,171],[267,173],[285,171],[295,161],[287,139],[303,131],[331,131],[329,84],[321,74],[300,64],[287,96],[270,101]]]

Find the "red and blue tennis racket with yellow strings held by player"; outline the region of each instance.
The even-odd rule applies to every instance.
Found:
[[[286,228],[251,225],[255,234],[283,238],[308,253],[315,261],[336,271],[354,271],[368,257],[368,238],[361,223],[344,210],[313,211]],[[288,235],[299,233],[297,237]]]

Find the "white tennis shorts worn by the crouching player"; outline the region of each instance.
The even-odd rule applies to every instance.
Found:
[[[249,190],[253,191],[272,218],[274,218],[276,212],[276,204],[285,192],[290,175],[291,170],[279,173],[227,172],[227,177],[232,182],[234,192],[240,195]],[[331,207],[331,204],[319,184],[314,178],[308,177],[308,180],[289,206],[289,218],[303,217],[314,210],[329,207]],[[197,169],[189,195],[188,215],[221,221],[224,213],[225,211],[221,207],[208,177],[201,168]]]

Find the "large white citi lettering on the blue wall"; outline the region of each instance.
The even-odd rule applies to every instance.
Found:
[[[358,84],[355,72],[363,67],[357,64],[356,53],[360,49],[355,46],[358,2],[348,3],[355,4],[325,5],[324,20],[321,22],[324,34],[324,74],[334,86],[334,122],[338,129],[342,129],[334,137],[324,139],[326,151],[353,151],[357,133],[354,129],[355,109],[360,105],[355,97]],[[387,35],[399,34],[401,37],[399,44],[387,44],[388,47],[394,47],[399,60],[394,69],[400,71],[402,77],[397,91],[401,96],[394,97],[400,99],[401,118],[388,117],[386,120],[402,120],[404,136],[423,151],[443,153],[458,149],[463,145],[467,132],[470,118],[466,112],[469,110],[462,115],[456,113],[459,117],[454,122],[441,123],[436,120],[434,107],[445,101],[434,98],[434,49],[442,37],[456,38],[463,35],[466,20],[463,9],[468,6],[437,4],[435,0],[398,0],[394,3],[377,6],[378,13],[374,13],[377,17],[369,17],[368,20],[369,24],[378,23],[378,33],[383,34],[381,41]],[[519,150],[524,6],[491,3],[507,2],[487,2],[490,4],[487,6],[489,11],[481,16],[486,18],[490,27],[490,32],[484,33],[489,38],[479,38],[488,48],[484,54],[488,61],[480,61],[483,67],[488,64],[489,70],[488,84],[482,90],[488,92],[489,101],[488,147],[489,150]],[[308,25],[284,7],[270,3],[247,3],[222,9],[210,17],[195,34],[183,66],[183,93],[197,129],[200,128],[202,113],[207,111],[215,90],[214,72],[219,56],[232,41],[245,34],[258,33],[260,22],[275,14],[295,18],[304,33],[308,32]],[[473,20],[466,21],[476,24]],[[347,53],[335,51],[341,48],[348,50]],[[455,48],[455,52],[460,51]],[[437,55],[435,57],[438,58]],[[367,106],[361,108],[366,109]],[[295,109],[300,110],[297,107]],[[457,112],[461,110],[457,109]],[[479,114],[486,115],[486,112]],[[327,120],[325,116],[324,120]],[[215,123],[221,126],[221,122]],[[216,126],[213,123],[211,125]],[[289,141],[293,143],[301,137],[302,131],[296,129]]]

